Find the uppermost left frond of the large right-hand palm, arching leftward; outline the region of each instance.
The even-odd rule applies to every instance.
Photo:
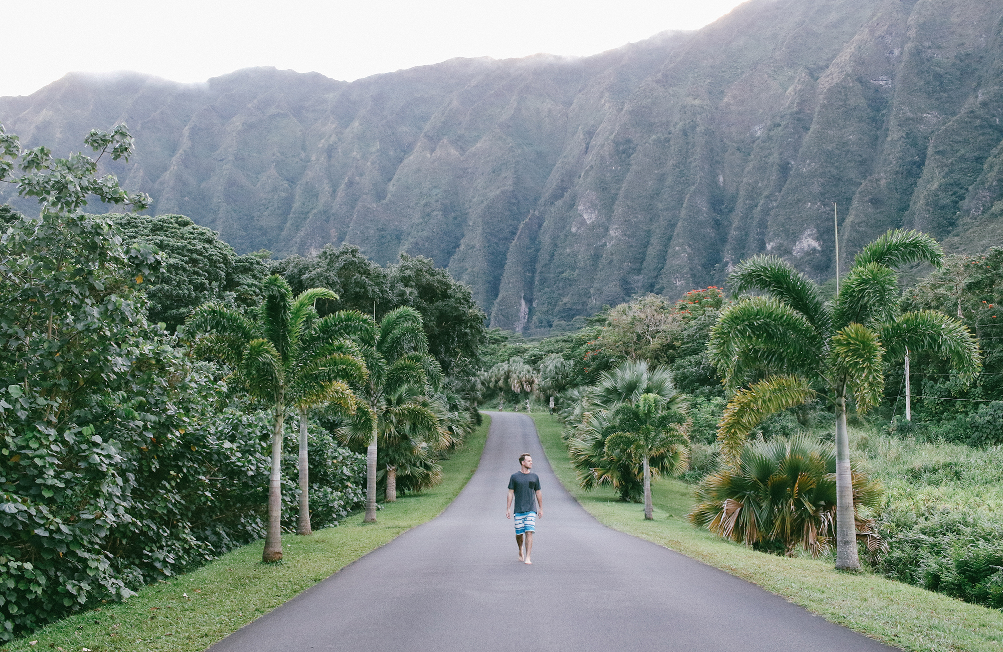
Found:
[[[742,261],[728,276],[728,284],[734,292],[768,292],[804,315],[819,333],[828,332],[831,317],[818,293],[818,285],[781,258],[754,256]]]

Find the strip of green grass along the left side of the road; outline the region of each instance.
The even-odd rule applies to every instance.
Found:
[[[283,537],[285,557],[274,565],[261,563],[263,542],[251,544],[192,573],[146,587],[123,603],[53,623],[2,650],[201,652],[402,532],[438,515],[476,469],[489,424],[485,416],[463,448],[442,462],[440,484],[384,504],[375,524],[363,524],[360,513],[337,528],[318,530],[310,537]],[[32,641],[37,644],[31,645]]]

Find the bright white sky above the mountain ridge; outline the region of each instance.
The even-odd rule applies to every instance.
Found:
[[[271,65],[352,80],[456,56],[587,55],[697,29],[739,0],[0,0],[0,95],[69,71],[205,81]]]

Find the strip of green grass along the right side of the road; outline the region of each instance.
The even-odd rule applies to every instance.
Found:
[[[620,503],[612,490],[578,486],[561,423],[533,414],[544,450],[561,482],[600,523],[717,567],[833,622],[906,650],[1003,650],[1003,612],[871,575],[838,573],[827,561],[757,553],[689,525],[691,486],[653,483],[655,520],[643,506]]]

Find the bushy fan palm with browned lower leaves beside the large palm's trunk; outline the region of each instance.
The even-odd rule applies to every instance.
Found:
[[[831,546],[835,522],[835,454],[799,435],[749,441],[738,463],[708,475],[696,490],[690,523],[746,546],[779,549],[793,556],[800,545],[818,557]],[[881,539],[861,507],[876,507],[881,490],[860,471],[853,473],[857,532],[877,552]]]

